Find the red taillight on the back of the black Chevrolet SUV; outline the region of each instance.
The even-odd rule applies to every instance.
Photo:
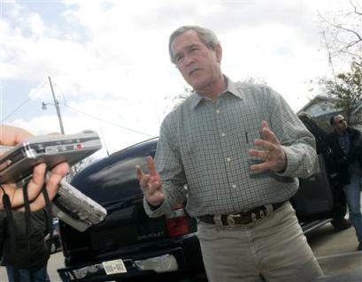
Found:
[[[189,217],[183,209],[173,210],[167,213],[166,222],[170,237],[189,233]]]

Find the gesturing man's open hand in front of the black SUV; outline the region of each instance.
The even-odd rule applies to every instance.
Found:
[[[151,156],[147,156],[147,167],[149,173],[144,173],[140,165],[135,166],[137,179],[140,180],[142,193],[146,201],[152,206],[158,206],[165,201],[165,195],[162,191],[161,178],[156,171],[155,162]]]

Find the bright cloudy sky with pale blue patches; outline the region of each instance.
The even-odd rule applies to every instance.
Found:
[[[33,133],[93,129],[110,152],[158,135],[172,97],[186,86],[169,62],[168,36],[209,27],[232,80],[257,77],[297,111],[309,80],[330,75],[317,11],[338,0],[0,0],[0,122]],[[100,154],[104,154],[104,151]]]

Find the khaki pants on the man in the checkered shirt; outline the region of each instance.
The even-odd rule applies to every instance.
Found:
[[[323,276],[290,203],[250,225],[198,223],[209,282],[307,282]]]

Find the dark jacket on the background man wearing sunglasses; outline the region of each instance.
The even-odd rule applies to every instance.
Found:
[[[332,170],[337,173],[337,180],[341,184],[350,183],[350,164],[358,161],[362,167],[362,135],[353,127],[347,127],[347,133],[350,136],[350,152],[347,155],[338,141],[338,133],[328,133],[326,137],[327,144],[332,149]]]

